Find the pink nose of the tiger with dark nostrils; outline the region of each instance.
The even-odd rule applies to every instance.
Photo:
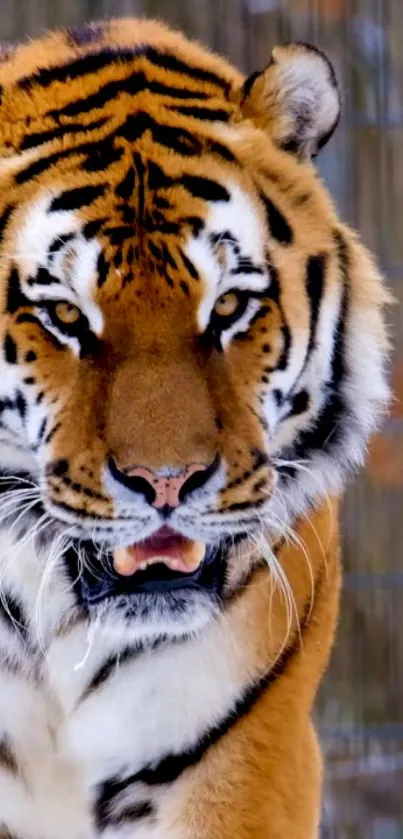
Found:
[[[219,467],[217,455],[212,463],[192,463],[185,469],[165,469],[158,472],[147,466],[122,468],[113,458],[109,468],[115,480],[144,495],[148,503],[161,511],[171,511],[185,500],[190,492],[201,489]]]

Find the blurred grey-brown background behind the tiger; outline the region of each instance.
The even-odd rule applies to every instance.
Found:
[[[401,304],[403,0],[0,0],[0,39],[129,14],[171,22],[247,73],[282,41],[328,53],[344,109],[319,167]],[[341,622],[318,703],[327,763],[323,839],[403,839],[401,305],[390,319],[397,399],[345,501]]]

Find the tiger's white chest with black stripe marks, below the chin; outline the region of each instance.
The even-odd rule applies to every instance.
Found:
[[[182,839],[180,775],[244,677],[206,639],[118,655],[94,645],[85,658],[85,638],[78,627],[31,673],[0,668],[0,827],[18,839]]]

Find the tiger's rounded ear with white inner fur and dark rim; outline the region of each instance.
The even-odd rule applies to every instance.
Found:
[[[340,117],[333,67],[322,52],[307,44],[275,47],[267,67],[246,79],[240,108],[276,145],[298,157],[314,157]]]

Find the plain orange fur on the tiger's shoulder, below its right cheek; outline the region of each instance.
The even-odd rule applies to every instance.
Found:
[[[298,523],[296,534],[307,558],[299,545],[279,551],[298,614],[289,629],[282,595],[265,571],[255,575],[230,610],[231,636],[249,646],[255,674],[268,661],[275,673],[276,659],[281,663],[287,647],[293,652],[253,711],[183,779],[172,801],[172,824],[178,824],[179,807],[184,839],[317,835],[322,760],[311,714],[338,612],[337,514],[333,502]]]

